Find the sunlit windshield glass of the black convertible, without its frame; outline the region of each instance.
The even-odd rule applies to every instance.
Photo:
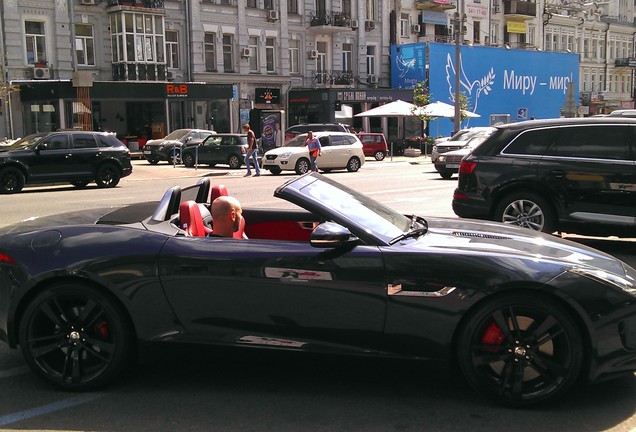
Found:
[[[347,221],[387,243],[411,227],[403,214],[327,177],[312,174],[294,183],[304,199],[328,208],[335,222]]]

